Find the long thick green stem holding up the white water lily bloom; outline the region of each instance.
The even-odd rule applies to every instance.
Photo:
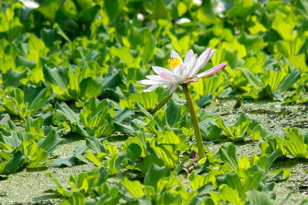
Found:
[[[203,159],[203,158],[205,158],[204,149],[203,149],[203,142],[202,142],[202,137],[201,137],[201,132],[200,132],[199,124],[198,124],[197,115],[196,115],[196,112],[194,110],[194,105],[192,105],[192,100],[191,100],[190,95],[189,95],[187,84],[183,84],[181,86],[183,88],[183,91],[184,91],[184,94],[185,94],[185,97],[186,97],[188,109],[189,109],[191,120],[192,120],[192,125],[194,126],[195,136],[196,136],[196,140],[197,140],[198,153],[199,153],[199,159]]]

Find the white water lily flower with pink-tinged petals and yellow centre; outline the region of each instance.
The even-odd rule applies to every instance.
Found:
[[[212,51],[211,48],[208,48],[198,58],[197,54],[194,54],[190,49],[187,51],[183,62],[180,55],[172,50],[171,58],[168,60],[170,70],[153,66],[152,68],[157,75],[147,75],[147,79],[140,80],[138,83],[151,86],[143,92],[153,91],[163,84],[165,88],[172,87],[170,90],[171,94],[175,92],[181,84],[196,83],[199,78],[214,74],[226,67],[227,64],[219,64],[205,72],[197,74],[214,55],[215,51],[216,50]]]

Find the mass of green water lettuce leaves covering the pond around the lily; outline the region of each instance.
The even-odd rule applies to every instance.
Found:
[[[200,5],[199,5],[200,4]],[[61,204],[274,204],[277,157],[308,158],[308,132],[276,136],[242,113],[228,126],[216,98],[308,101],[308,3],[294,1],[37,0],[0,3],[0,178],[23,168],[93,164],[72,174],[69,187],[48,173]],[[183,23],[184,22],[184,23]],[[205,146],[226,138],[259,141],[261,155],[238,158],[236,147],[196,158],[196,143],[179,88],[142,93],[137,83],[167,68],[171,49],[182,57],[217,49],[202,69],[227,67],[189,85]],[[54,159],[63,138],[86,139]],[[108,142],[128,134],[121,147]],[[195,169],[191,172],[188,167]],[[190,187],[178,179],[187,172]],[[130,173],[131,178],[108,177]],[[189,175],[189,176],[188,176]],[[285,199],[287,200],[287,198]],[[306,204],[303,201],[302,204]]]

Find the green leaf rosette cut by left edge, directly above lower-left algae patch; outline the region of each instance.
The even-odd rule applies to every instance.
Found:
[[[24,131],[10,120],[8,124],[10,126],[1,126],[0,156],[4,161],[0,162],[0,174],[11,174],[23,165],[27,168],[45,167],[51,163],[47,160],[50,154],[63,144],[58,134],[60,130],[42,130],[43,118],[25,118]]]

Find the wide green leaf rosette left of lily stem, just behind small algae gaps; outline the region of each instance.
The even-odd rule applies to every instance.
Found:
[[[66,129],[77,132],[82,136],[97,138],[114,133],[114,124],[133,115],[128,108],[114,110],[114,104],[108,100],[99,101],[95,97],[86,100],[80,114],[76,114],[65,103],[56,104],[56,124],[62,124]],[[66,119],[70,122],[67,124]],[[84,128],[86,130],[84,130]]]

